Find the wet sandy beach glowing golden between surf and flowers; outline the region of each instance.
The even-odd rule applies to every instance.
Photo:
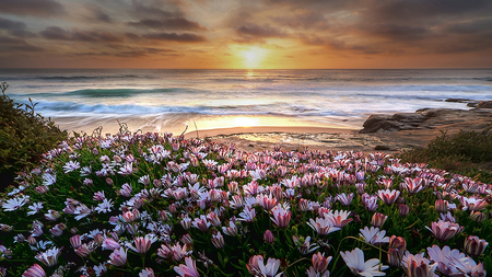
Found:
[[[417,111],[415,114],[421,114]],[[430,114],[430,113],[429,113]],[[243,151],[260,151],[281,146],[283,150],[306,147],[321,151],[382,151],[395,154],[415,147],[425,147],[446,131],[481,131],[492,124],[492,109],[435,109],[429,118],[410,129],[384,130],[361,134],[355,128],[323,127],[236,127],[188,131],[186,138],[199,137],[218,143],[235,145]]]

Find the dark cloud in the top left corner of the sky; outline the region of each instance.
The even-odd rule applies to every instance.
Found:
[[[56,0],[1,0],[0,13],[51,18],[65,14]]]

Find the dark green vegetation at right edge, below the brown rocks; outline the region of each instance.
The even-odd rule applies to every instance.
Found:
[[[429,163],[431,168],[459,173],[476,181],[492,183],[492,125],[482,131],[459,131],[441,136],[425,148],[415,148],[400,154],[403,162]]]

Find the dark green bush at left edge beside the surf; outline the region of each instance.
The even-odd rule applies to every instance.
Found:
[[[45,119],[34,112],[35,103],[14,103],[1,83],[0,89],[0,187],[11,183],[14,173],[39,161],[42,153],[67,138],[50,118]]]

